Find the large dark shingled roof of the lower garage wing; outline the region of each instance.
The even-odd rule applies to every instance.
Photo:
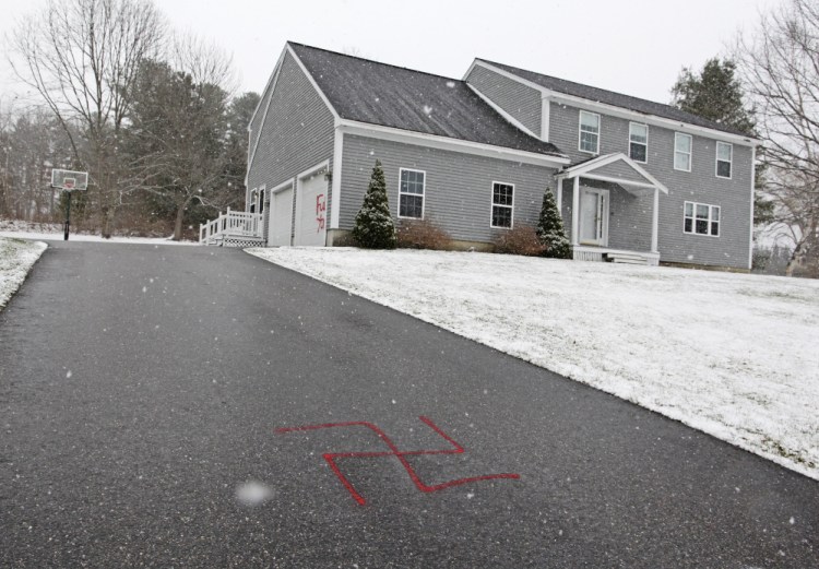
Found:
[[[289,45],[343,119],[563,156],[508,122],[464,81]]]

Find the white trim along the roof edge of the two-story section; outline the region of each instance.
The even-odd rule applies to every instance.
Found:
[[[494,71],[495,73],[498,73],[499,75],[502,75],[507,79],[510,79],[512,81],[517,81],[518,83],[521,83],[523,85],[526,85],[532,88],[536,88],[539,91],[544,97],[549,97],[555,103],[566,103],[569,104],[572,107],[581,108],[584,110],[591,110],[591,111],[597,111],[603,112],[605,115],[612,116],[612,117],[618,117],[624,118],[628,120],[636,120],[640,121],[644,125],[653,125],[655,127],[662,127],[670,130],[677,130],[682,131],[689,134],[699,134],[702,137],[707,137],[714,140],[723,140],[725,142],[734,142],[740,145],[746,146],[758,146],[762,144],[762,142],[758,139],[753,139],[751,137],[743,137],[740,134],[732,134],[729,132],[723,132],[721,130],[710,129],[708,127],[699,127],[697,125],[690,125],[687,122],[680,122],[678,120],[668,119],[665,117],[658,117],[656,115],[646,115],[643,112],[638,112],[636,110],[629,110],[625,109],[622,107],[617,107],[615,105],[609,105],[606,103],[600,103],[596,100],[590,100],[583,97],[578,97],[575,95],[567,95],[565,93],[560,93],[559,91],[553,91],[550,88],[546,88],[543,85],[538,85],[537,83],[534,83],[532,81],[529,81],[526,79],[521,78],[520,75],[515,75],[514,73],[511,73],[509,71],[506,71],[505,69],[500,69],[498,67],[492,66],[491,63],[484,61],[479,58],[476,58],[472,66],[470,66],[470,69],[466,71],[466,74],[464,75],[464,81],[466,81],[466,78],[470,75],[472,70],[475,68],[475,66],[480,66],[484,69],[488,69],[489,71]],[[595,87],[597,88],[597,87]],[[605,90],[603,90],[605,91]],[[612,92],[614,93],[614,92]],[[634,97],[638,98],[638,97]],[[648,100],[648,99],[646,99]],[[652,102],[649,102],[652,103]]]

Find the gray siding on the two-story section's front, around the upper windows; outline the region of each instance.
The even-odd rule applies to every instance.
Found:
[[[580,109],[550,103],[549,140],[568,154],[572,162],[590,158],[578,150]],[[628,155],[629,120],[601,114],[600,153],[622,152]],[[691,171],[674,169],[674,133],[672,129],[649,127],[648,163],[640,164],[668,188],[660,195],[658,249],[661,260],[748,269],[750,248],[750,212],[752,149],[734,144],[732,179],[716,177],[716,141],[693,135]],[[602,170],[601,170],[602,171]],[[563,203],[571,203],[570,182],[563,183]],[[686,201],[721,209],[720,236],[690,235],[682,232]],[[651,218],[652,208],[644,215]],[[642,209],[634,215],[643,215]],[[634,223],[639,222],[634,217]]]

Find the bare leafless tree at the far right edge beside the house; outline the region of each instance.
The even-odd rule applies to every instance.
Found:
[[[819,260],[819,2],[788,0],[763,14],[735,58],[765,142],[767,192],[793,239],[793,274]]]

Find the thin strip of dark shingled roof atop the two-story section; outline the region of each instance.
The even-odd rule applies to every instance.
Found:
[[[615,93],[614,91],[606,91],[604,88],[592,87],[589,85],[583,85],[582,83],[567,81],[565,79],[543,75],[541,73],[535,73],[534,71],[526,71],[525,69],[507,66],[506,63],[497,63],[487,59],[478,58],[478,61],[484,61],[498,69],[502,69],[503,71],[512,73],[513,75],[518,75],[521,79],[525,79],[526,81],[541,85],[542,87],[546,87],[565,95],[572,95],[592,102],[613,105],[615,107],[640,112],[641,115],[653,115],[655,117],[662,117],[665,119],[679,121],[681,123],[695,125],[697,127],[703,127],[707,129],[719,130],[721,132],[728,132],[731,134],[747,137],[746,133],[740,132],[736,129],[726,127],[724,125],[721,125],[720,122],[714,122],[712,120],[698,117],[697,115],[691,115],[690,112],[686,112],[676,107],[672,107],[670,105],[663,105],[662,103],[654,103],[653,100],[632,97],[630,95],[622,95],[620,93]]]

